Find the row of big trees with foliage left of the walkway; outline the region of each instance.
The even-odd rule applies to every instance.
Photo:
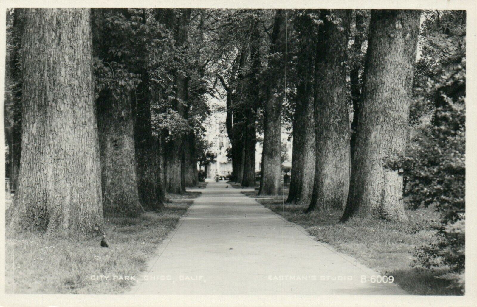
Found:
[[[197,185],[206,22],[191,9],[7,12],[12,229],[101,233],[104,215],[161,210]]]

